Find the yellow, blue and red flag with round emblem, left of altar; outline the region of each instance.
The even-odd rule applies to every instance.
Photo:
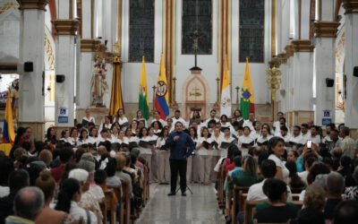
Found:
[[[156,89],[155,107],[160,112],[160,118],[166,120],[166,116],[169,116],[169,97],[167,91],[166,82],[166,68],[164,67],[163,53],[160,57],[160,69],[158,76],[158,83]]]

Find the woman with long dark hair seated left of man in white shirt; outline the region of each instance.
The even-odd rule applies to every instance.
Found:
[[[234,177],[229,183],[229,189],[232,189],[234,185],[237,186],[251,186],[259,183],[262,177],[258,175],[257,161],[251,156],[247,156],[243,160],[243,173]]]

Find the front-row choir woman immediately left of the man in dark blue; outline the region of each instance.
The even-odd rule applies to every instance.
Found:
[[[170,182],[169,148],[166,146],[168,134],[168,129],[164,127],[157,141],[157,178],[159,184],[169,184]]]

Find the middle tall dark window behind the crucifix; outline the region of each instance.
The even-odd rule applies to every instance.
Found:
[[[182,54],[212,54],[212,2],[211,0],[183,0]]]

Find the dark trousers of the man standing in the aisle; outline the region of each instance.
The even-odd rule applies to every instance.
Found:
[[[176,180],[178,178],[178,173],[180,176],[180,189],[182,193],[186,190],[186,159],[170,159],[170,190],[172,193],[175,192]]]

